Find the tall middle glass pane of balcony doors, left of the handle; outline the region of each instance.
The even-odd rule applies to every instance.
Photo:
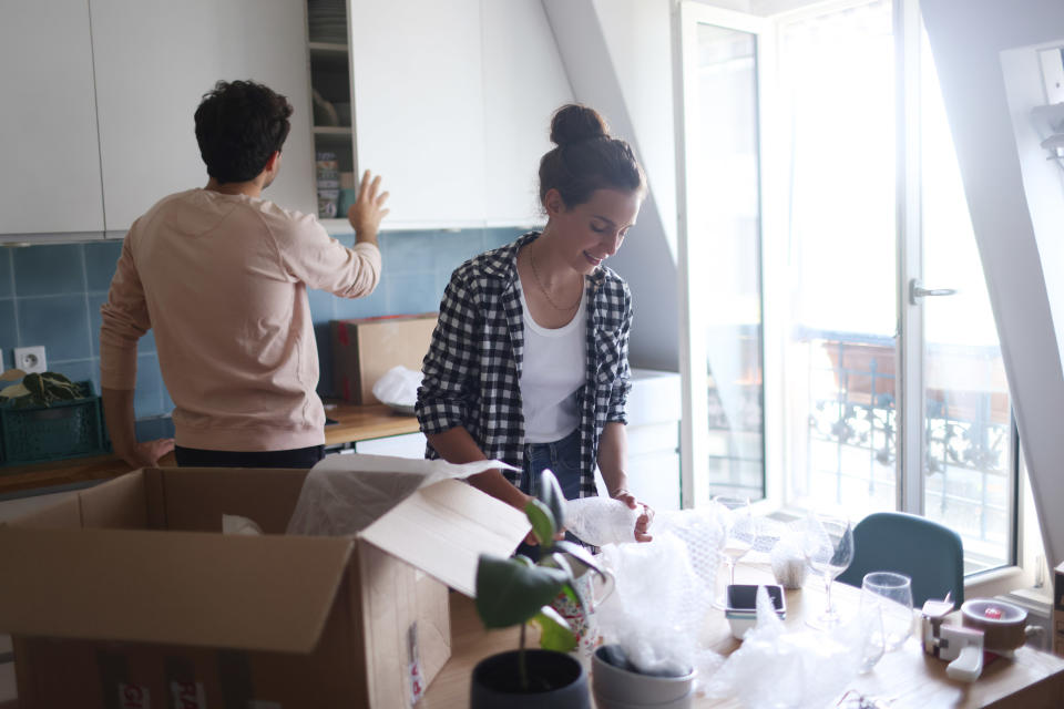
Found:
[[[899,494],[891,9],[848,3],[778,30],[787,496],[855,518],[893,510]]]

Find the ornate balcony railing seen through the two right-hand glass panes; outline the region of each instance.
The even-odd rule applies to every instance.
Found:
[[[852,491],[847,482],[856,481],[872,500],[892,497],[898,458],[893,339],[821,333],[808,338],[808,348],[810,368],[825,362],[816,357],[823,352],[831,373],[829,380],[810,371],[810,382],[833,380],[835,386],[809,389],[807,474],[833,475],[836,504],[855,503],[843,491]],[[925,368],[924,514],[964,537],[970,566],[1001,563],[1009,540],[1012,445],[1007,391],[992,383],[1003,379],[1001,354],[996,347],[930,346]]]

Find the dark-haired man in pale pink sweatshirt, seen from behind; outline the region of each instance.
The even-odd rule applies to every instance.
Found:
[[[362,176],[346,248],[314,216],[259,197],[280,169],[288,101],[218,82],[196,110],[209,179],[164,197],[130,228],[101,308],[100,369],[115,452],[135,467],[174,450],[178,465],[309,467],[325,410],[307,288],[345,298],[380,278],[380,177]],[[164,166],[160,166],[164,168]],[[174,400],[174,439],[137,442],[136,342],[153,329]]]

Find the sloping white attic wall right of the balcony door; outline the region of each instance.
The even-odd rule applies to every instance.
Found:
[[[1044,185],[1024,192],[1024,177],[1034,173],[1021,166],[1003,60],[1010,74],[1017,66],[1015,56],[1002,52],[1058,39],[1064,2],[968,0],[963,17],[955,0],[923,0],[922,9],[998,320],[1045,549],[1055,565],[1064,554],[1064,518],[1054,510],[1064,500],[1060,430],[1064,421],[1060,342],[1064,338],[1054,327],[1053,311],[1064,312],[1064,260],[1055,246],[1061,223],[1032,222],[1034,209],[1029,207],[1037,205],[1029,204],[1027,197],[1058,205],[1064,192],[1054,196]],[[1022,86],[1014,91],[1024,93]],[[1032,160],[1026,148],[1024,160]],[[1040,242],[1047,247],[1044,251]],[[1053,260],[1043,259],[1051,255]]]

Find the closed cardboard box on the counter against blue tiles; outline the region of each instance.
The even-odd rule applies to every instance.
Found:
[[[379,403],[374,384],[392,367],[421,371],[437,314],[332,320],[332,388],[345,401]]]

